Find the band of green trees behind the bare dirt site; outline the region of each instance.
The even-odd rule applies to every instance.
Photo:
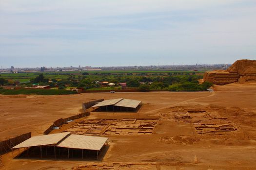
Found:
[[[82,76],[76,77],[70,75],[67,79],[56,80],[45,78],[43,74],[39,74],[34,79],[30,80],[27,85],[38,84],[38,85],[50,85],[50,87],[58,86],[59,89],[64,89],[66,86],[79,87],[85,90],[91,88],[100,87],[96,81],[109,81],[115,84],[124,83],[128,87],[137,88],[142,91],[147,90],[170,90],[170,91],[201,91],[206,90],[212,84],[204,82],[203,84],[198,83],[200,75],[172,75],[172,76],[125,76],[125,75],[109,75],[109,76],[92,76],[83,74]],[[7,80],[0,77],[0,85],[8,83]]]

